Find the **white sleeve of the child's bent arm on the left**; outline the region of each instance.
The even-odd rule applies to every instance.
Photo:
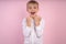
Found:
[[[26,19],[24,18],[22,20],[22,31],[23,31],[23,35],[25,37],[29,37],[31,35],[31,29],[30,26],[26,26]]]

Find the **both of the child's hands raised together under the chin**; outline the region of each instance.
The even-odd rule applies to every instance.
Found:
[[[31,23],[32,23],[31,21],[32,21],[32,19],[34,19],[34,21],[35,21],[35,26],[38,26],[38,25],[40,25],[41,18],[37,16],[37,15],[28,16],[28,18],[26,18],[26,25],[28,25],[28,26],[31,26]]]

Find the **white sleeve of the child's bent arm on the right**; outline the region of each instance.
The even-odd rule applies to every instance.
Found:
[[[45,21],[44,21],[44,19],[42,19],[40,22],[40,25],[36,26],[36,35],[38,37],[41,37],[43,35],[44,28],[45,28]]]

